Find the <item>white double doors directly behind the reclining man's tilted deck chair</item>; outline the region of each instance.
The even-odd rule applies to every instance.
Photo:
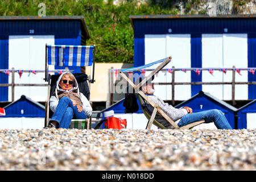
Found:
[[[172,61],[155,76],[154,82],[171,82],[172,74],[166,68],[191,68],[190,34],[145,35],[145,64],[172,56]],[[154,65],[156,68],[158,65]],[[146,72],[147,73],[147,72]],[[147,74],[146,74],[147,75]],[[190,82],[191,72],[175,72],[176,82]],[[171,85],[155,85],[155,95],[163,100],[171,100]],[[191,97],[190,85],[175,86],[175,100],[187,100]]]

